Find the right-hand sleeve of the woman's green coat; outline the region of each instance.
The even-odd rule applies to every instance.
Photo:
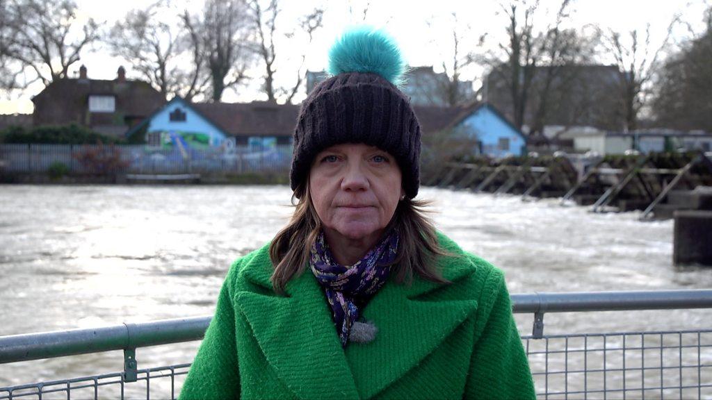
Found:
[[[481,305],[465,399],[535,399],[529,364],[500,270],[493,268],[488,274]]]

